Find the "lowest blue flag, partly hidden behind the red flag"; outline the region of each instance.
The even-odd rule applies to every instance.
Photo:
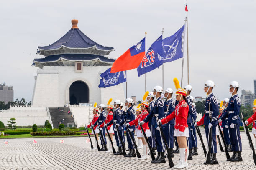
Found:
[[[118,85],[122,82],[126,82],[126,71],[120,71],[116,73],[110,73],[111,68],[100,74],[99,88],[106,88],[114,85]]]

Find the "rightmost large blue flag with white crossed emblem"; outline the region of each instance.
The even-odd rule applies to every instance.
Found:
[[[174,35],[154,42],[151,45],[156,57],[155,62],[162,65],[183,57],[185,25],[182,26]]]

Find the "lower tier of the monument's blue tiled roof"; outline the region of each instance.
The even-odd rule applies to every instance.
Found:
[[[59,60],[59,58],[63,58],[66,60],[95,60],[99,59],[102,62],[115,62],[115,59],[110,59],[104,57],[102,55],[93,55],[93,54],[59,54],[59,55],[49,55],[45,58],[34,59],[33,62],[54,62]]]

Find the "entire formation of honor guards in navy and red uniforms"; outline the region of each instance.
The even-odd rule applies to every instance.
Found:
[[[224,140],[226,156],[228,152],[233,152],[231,157],[227,156],[227,161],[243,161],[239,130],[241,100],[237,95],[238,82],[230,82],[229,92],[232,96],[230,99],[225,98],[219,108],[218,100],[213,95],[215,84],[211,80],[206,81],[204,85],[204,91],[207,94],[205,114],[197,122],[194,97],[191,96],[192,86],[186,85],[181,88],[177,78],[174,78],[174,85],[176,87],[175,94],[171,88],[167,88],[163,93],[161,86],[155,86],[150,93],[146,92],[137,110],[134,110],[134,102],[131,98],[125,100],[125,105],[120,100],[115,100],[111,105],[112,99],[110,99],[106,107],[107,113],[104,110],[104,104],[97,107],[95,103],[92,122],[86,128],[92,128],[92,134],[96,139],[95,146],[98,146],[98,150],[106,153],[113,152],[114,155],[124,155],[125,157],[137,156],[139,160],[147,160],[148,155],[151,155],[151,163],[155,164],[166,163],[166,157],[171,159],[174,157],[174,153],[179,153],[179,163],[173,168],[186,168],[188,160],[193,160],[192,156],[198,155],[196,132],[200,133],[200,130],[197,131],[196,128],[205,125],[205,135],[210,150],[204,164],[218,164],[217,139],[221,146],[219,135]],[[172,98],[173,94],[176,96],[176,100]],[[253,123],[252,131],[256,144],[256,100],[253,113],[248,120],[243,122],[243,126]],[[126,140],[124,130],[126,130]],[[109,138],[108,148],[105,133]],[[113,148],[113,133],[118,147],[117,152]],[[101,148],[98,145],[98,134],[100,134]],[[135,142],[135,135],[138,138],[138,146]],[[198,136],[203,145],[202,136],[200,134]],[[125,141],[128,143],[127,150]],[[174,145],[176,146],[175,150]],[[143,148],[142,156],[137,152],[138,148]],[[220,149],[224,152],[222,147]],[[125,151],[129,152],[126,154]],[[154,155],[157,155],[156,158]],[[170,167],[172,167],[171,164]]]

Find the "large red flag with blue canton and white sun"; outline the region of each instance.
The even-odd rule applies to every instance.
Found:
[[[110,73],[131,70],[137,68],[145,55],[145,38],[136,45],[129,48],[123,55],[115,60],[111,67]]]

